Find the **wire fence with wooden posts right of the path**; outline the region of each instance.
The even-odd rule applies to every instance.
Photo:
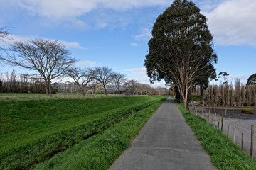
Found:
[[[242,117],[238,115],[236,108],[206,108],[189,104],[188,110],[194,115],[205,118],[215,128],[218,128],[223,134],[228,135],[238,147],[255,158],[256,119]]]

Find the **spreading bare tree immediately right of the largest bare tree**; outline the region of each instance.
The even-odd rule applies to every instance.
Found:
[[[80,69],[78,67],[68,68],[66,74],[75,81],[78,85],[82,95],[85,96],[86,86],[93,80],[95,76],[95,71],[92,69]]]

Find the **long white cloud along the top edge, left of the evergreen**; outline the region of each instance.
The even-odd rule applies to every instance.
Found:
[[[9,0],[9,6],[18,6],[29,13],[38,14],[55,19],[66,19],[81,16],[98,8],[107,8],[115,11],[123,11],[130,8],[145,6],[166,6],[172,0]]]

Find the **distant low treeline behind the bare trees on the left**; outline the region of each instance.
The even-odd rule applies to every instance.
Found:
[[[53,83],[52,93],[82,93],[78,84],[72,82]],[[108,93],[118,94],[117,89],[110,85]],[[121,86],[122,94],[127,95],[168,95],[166,88],[152,88],[148,84],[141,84],[135,80],[129,80]],[[46,93],[43,79],[31,74],[17,74],[14,70],[9,73],[0,73],[0,93]],[[104,94],[102,87],[95,83],[86,87],[87,94]]]

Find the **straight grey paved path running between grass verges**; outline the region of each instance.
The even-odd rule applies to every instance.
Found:
[[[216,169],[173,99],[152,116],[111,170]]]

